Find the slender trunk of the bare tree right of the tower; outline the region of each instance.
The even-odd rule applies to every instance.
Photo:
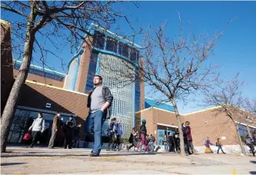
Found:
[[[179,132],[179,138],[180,138],[181,156],[185,156],[185,144],[184,144],[184,137],[183,137],[183,131],[181,126],[181,115],[178,113],[178,107],[175,103],[175,100],[174,99],[170,99],[170,100],[171,100],[171,103],[173,104],[173,107],[175,107],[175,115],[178,121],[178,132]]]

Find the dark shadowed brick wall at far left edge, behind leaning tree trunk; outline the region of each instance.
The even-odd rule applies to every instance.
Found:
[[[11,26],[1,20],[1,115],[14,82],[12,69]]]

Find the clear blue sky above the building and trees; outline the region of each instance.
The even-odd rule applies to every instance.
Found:
[[[148,25],[157,27],[167,21],[166,30],[170,38],[177,35],[178,12],[181,14],[185,28],[193,28],[195,33],[206,31],[209,35],[214,34],[215,31],[222,31],[231,18],[238,16],[228,26],[224,36],[217,41],[211,64],[218,64],[222,78],[234,78],[235,74],[240,73],[240,79],[246,82],[243,87],[244,96],[256,97],[256,2],[135,3],[138,8],[131,2],[115,5],[115,8],[125,10],[125,15],[128,15],[128,18],[133,21],[134,28],[138,28],[138,26],[147,28]],[[10,15],[8,18],[13,18],[13,16]],[[191,25],[188,25],[188,21],[191,22]],[[121,26],[123,32],[131,34],[123,21],[118,21],[118,25]],[[135,38],[135,41],[140,45],[141,36]],[[61,56],[65,64],[68,64],[71,58],[68,48],[62,51]],[[60,61],[57,58],[48,58],[48,65],[54,67],[56,71],[63,73],[67,71],[59,66]],[[200,100],[201,97],[198,97],[198,101]],[[203,107],[194,106],[196,106],[194,102],[185,107],[182,103],[178,103],[181,113],[203,109]]]

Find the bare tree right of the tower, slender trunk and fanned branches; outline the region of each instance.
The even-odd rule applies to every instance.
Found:
[[[141,59],[135,65],[136,68],[128,61],[123,61],[129,71],[115,68],[111,68],[111,71],[119,74],[122,80],[125,77],[127,83],[145,82],[151,87],[150,94],[158,97],[158,102],[171,102],[178,121],[181,155],[184,156],[185,144],[177,101],[188,101],[189,95],[201,88],[210,87],[216,81],[217,66],[204,64],[213,54],[214,45],[217,39],[224,35],[224,31],[209,37],[206,32],[194,35],[191,29],[185,35],[179,13],[178,16],[178,37],[168,38],[165,25],[158,28],[149,27],[143,38]],[[108,65],[101,66],[109,68]]]

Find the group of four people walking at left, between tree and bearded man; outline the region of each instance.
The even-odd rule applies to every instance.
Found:
[[[65,134],[65,146],[66,149],[71,149],[71,147],[78,147],[79,145],[79,134],[81,124],[76,125],[75,119],[71,115],[69,120],[62,124],[62,120],[60,119],[61,114],[57,113],[53,118],[52,123],[52,136],[49,140],[48,148],[52,149],[55,146],[55,140],[57,137],[57,133],[59,130],[64,130]],[[32,125],[28,128],[29,132],[32,132],[32,143],[30,147],[34,147],[40,135],[45,131],[45,120],[42,113],[38,114],[38,117],[33,121]]]

